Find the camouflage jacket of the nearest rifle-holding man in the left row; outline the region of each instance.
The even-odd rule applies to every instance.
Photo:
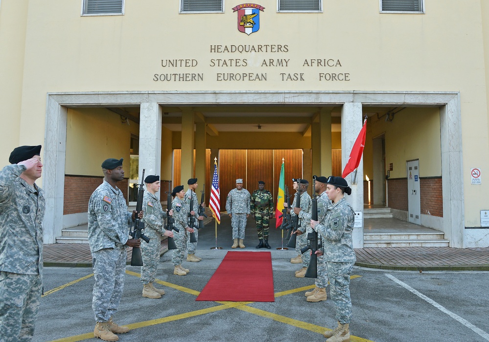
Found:
[[[132,215],[122,192],[104,180],[89,199],[90,251],[123,247],[129,239]]]

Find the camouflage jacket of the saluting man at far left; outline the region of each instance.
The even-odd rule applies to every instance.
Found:
[[[0,172],[0,271],[42,275],[44,192],[19,177],[12,164]]]

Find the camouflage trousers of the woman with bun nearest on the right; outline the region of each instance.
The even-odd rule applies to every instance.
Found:
[[[330,297],[333,301],[335,318],[341,324],[352,321],[352,299],[350,298],[350,275],[352,262],[327,262],[330,280]]]

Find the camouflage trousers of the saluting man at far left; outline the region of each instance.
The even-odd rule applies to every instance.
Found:
[[[31,341],[42,291],[40,275],[0,272],[0,341]]]

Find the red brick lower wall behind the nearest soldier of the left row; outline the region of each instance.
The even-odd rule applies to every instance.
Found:
[[[76,175],[65,175],[65,199],[63,214],[86,213],[89,206],[89,199],[92,192],[102,184],[104,177],[87,177]],[[117,183],[127,200],[128,179],[123,179]]]

